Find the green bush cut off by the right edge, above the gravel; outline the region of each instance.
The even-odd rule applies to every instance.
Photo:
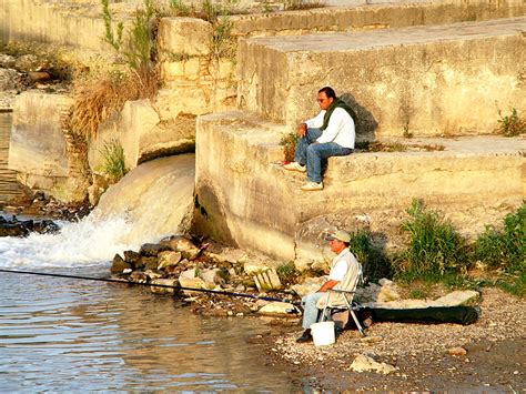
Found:
[[[504,218],[502,231],[486,226],[475,242],[474,256],[492,269],[526,271],[526,203]]]

